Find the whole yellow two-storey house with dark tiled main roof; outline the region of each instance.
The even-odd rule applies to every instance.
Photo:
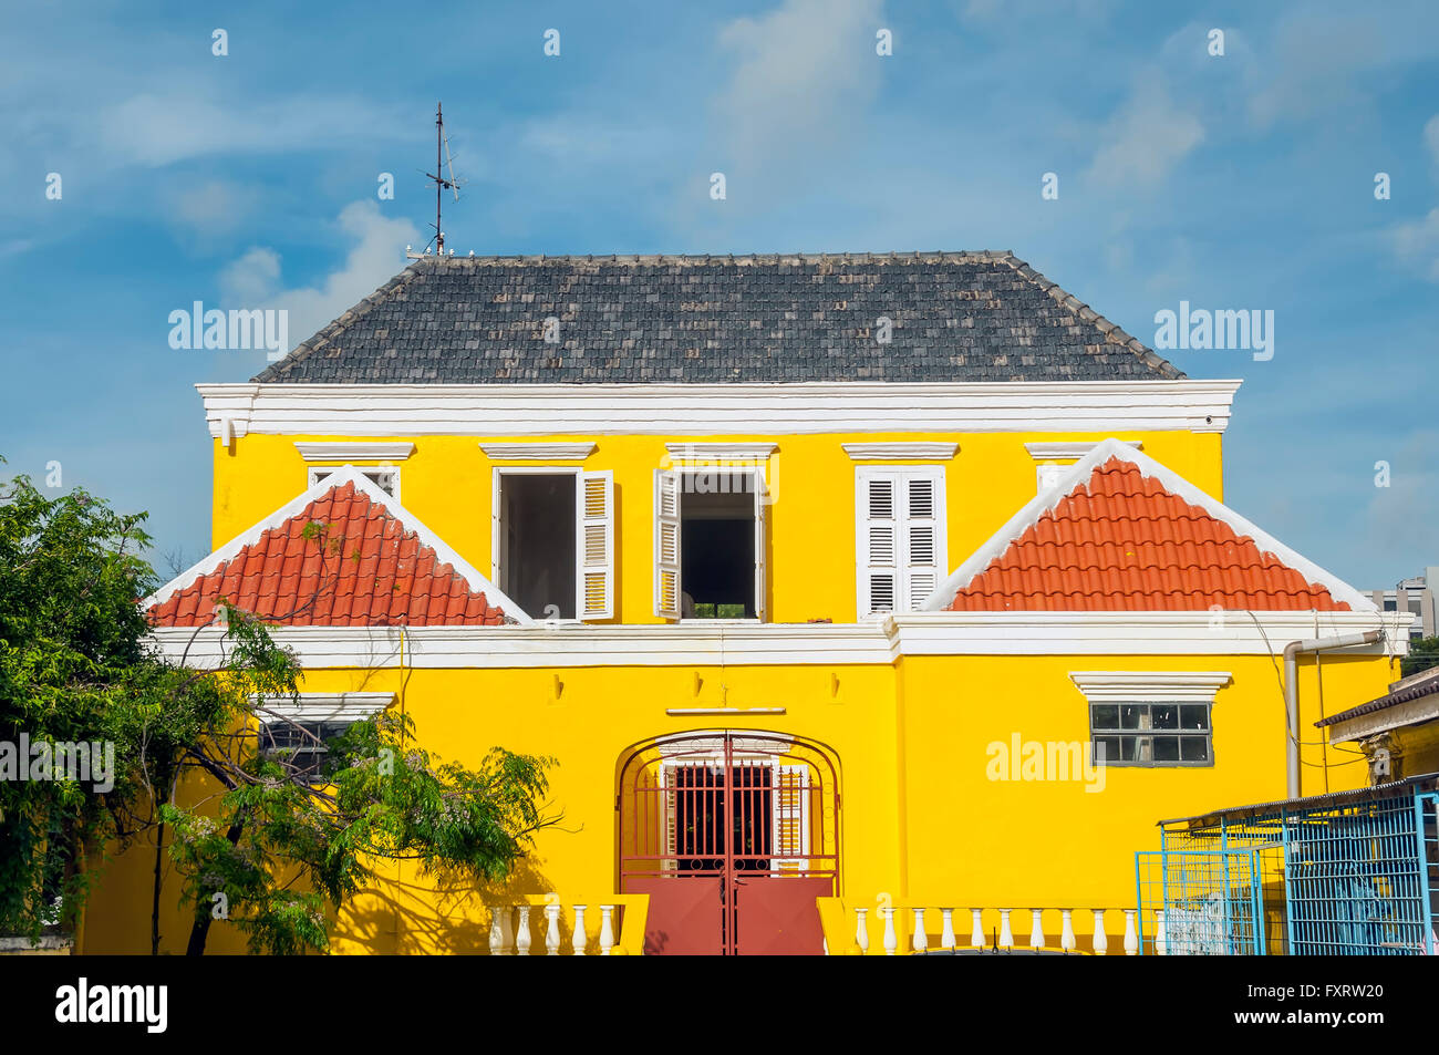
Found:
[[[340,951],[488,951],[545,895],[591,951],[626,898],[633,951],[817,953],[817,898],[830,951],[886,907],[1112,930],[1160,818],[1363,784],[1288,730],[1403,648],[1222,504],[1239,383],[1009,253],[419,258],[199,387],[216,550],[150,599],[160,646],[213,662],[226,596],[298,652],[301,720],[558,760],[508,891],[397,872]],[[148,948],[153,856],[83,951]]]

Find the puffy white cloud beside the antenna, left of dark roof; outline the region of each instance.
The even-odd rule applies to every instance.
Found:
[[[279,253],[256,246],[220,273],[224,307],[288,309],[291,344],[299,344],[389,282],[403,266],[404,246],[420,240],[413,223],[384,216],[376,202],[345,206],[337,223],[354,242],[338,271],[285,289]]]

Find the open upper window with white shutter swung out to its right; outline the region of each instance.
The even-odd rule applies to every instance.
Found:
[[[614,478],[496,469],[494,579],[535,619],[614,615]]]

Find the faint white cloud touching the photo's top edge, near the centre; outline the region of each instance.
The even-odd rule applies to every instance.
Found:
[[[879,86],[875,33],[885,24],[882,0],[786,0],[755,19],[720,32],[738,56],[715,101],[738,170],[793,158],[840,141],[862,127]],[[904,46],[895,39],[896,53]],[[777,166],[776,166],[777,167]]]

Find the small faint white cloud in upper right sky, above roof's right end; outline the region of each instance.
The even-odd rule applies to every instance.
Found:
[[[1088,177],[1108,187],[1156,184],[1203,140],[1199,118],[1179,109],[1158,78],[1144,78],[1102,130]]]

